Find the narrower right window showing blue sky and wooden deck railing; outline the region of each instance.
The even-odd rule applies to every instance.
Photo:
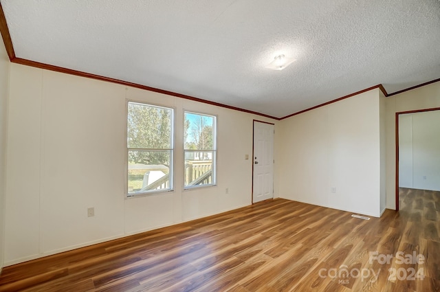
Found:
[[[185,112],[185,188],[215,185],[216,131],[213,115]]]

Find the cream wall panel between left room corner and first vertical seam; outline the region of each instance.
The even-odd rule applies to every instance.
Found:
[[[37,255],[40,249],[42,74],[36,69],[17,67],[10,65],[5,264]]]

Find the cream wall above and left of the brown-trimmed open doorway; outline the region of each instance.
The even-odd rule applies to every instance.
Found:
[[[386,207],[395,210],[395,114],[440,107],[440,82],[386,98]]]

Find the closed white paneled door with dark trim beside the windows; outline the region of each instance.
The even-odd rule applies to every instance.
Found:
[[[252,202],[274,197],[274,125],[254,121]]]

